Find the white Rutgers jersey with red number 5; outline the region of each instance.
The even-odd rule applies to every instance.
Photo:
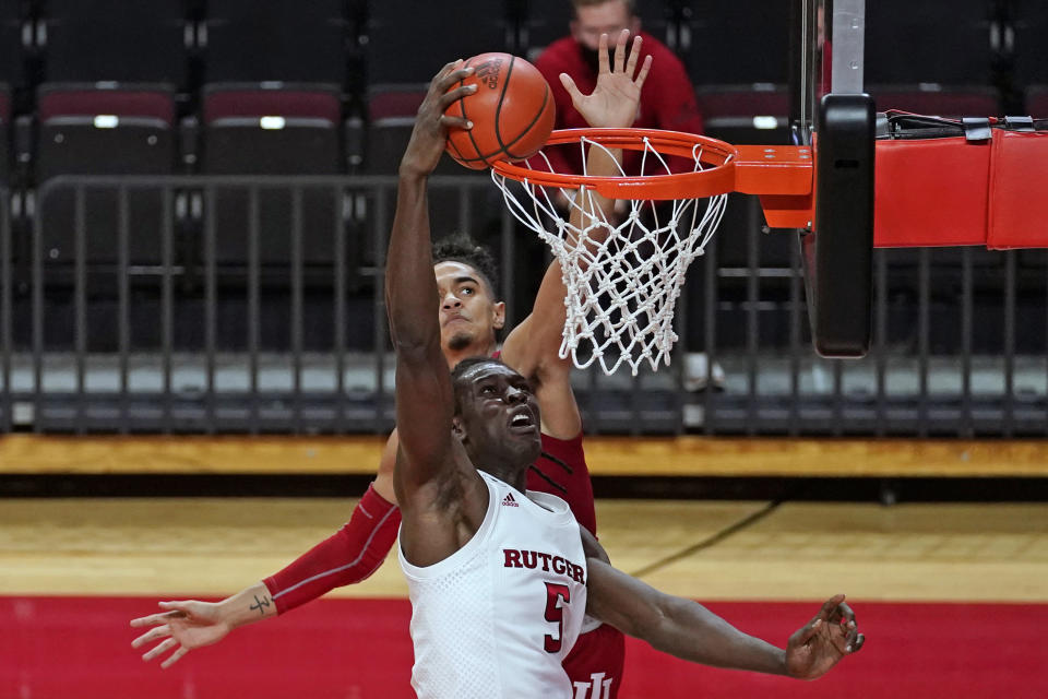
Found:
[[[488,511],[473,538],[425,568],[400,555],[412,599],[412,686],[419,699],[570,699],[561,661],[586,608],[579,524],[560,498],[525,496],[479,473]]]

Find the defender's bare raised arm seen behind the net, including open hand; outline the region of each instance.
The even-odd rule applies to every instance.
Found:
[[[628,39],[628,31],[618,36],[611,64],[608,61],[608,37],[600,37],[599,73],[592,94],[583,95],[570,75],[560,75],[572,104],[591,127],[629,127],[636,117],[641,88],[647,79],[652,58],[648,56],[641,62],[640,36],[633,39],[632,48],[627,51]],[[621,151],[591,147],[586,170],[590,175],[618,175],[621,159]],[[570,224],[577,229],[583,218],[602,220],[604,212],[610,217],[611,202],[596,192],[586,191],[570,204]],[[606,237],[607,232],[593,229],[587,235],[596,242]],[[543,431],[561,439],[574,437],[582,428],[571,392],[571,362],[560,358],[565,294],[560,263],[555,261],[543,277],[531,315],[507,336],[502,347],[502,359],[534,380],[543,412]]]

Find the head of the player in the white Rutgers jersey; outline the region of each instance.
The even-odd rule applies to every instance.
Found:
[[[490,357],[471,357],[451,372],[454,434],[474,465],[510,479],[541,452],[538,402],[523,376]]]

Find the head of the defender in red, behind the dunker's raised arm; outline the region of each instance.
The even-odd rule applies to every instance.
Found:
[[[497,300],[498,272],[490,250],[464,234],[433,244],[433,273],[440,294],[440,344],[445,351],[490,354],[505,324]]]

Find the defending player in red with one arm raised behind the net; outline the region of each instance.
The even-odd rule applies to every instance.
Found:
[[[602,37],[605,58],[592,94],[583,95],[570,78],[561,78],[575,107],[593,127],[630,126],[636,114],[652,61],[647,58],[638,67],[642,42],[634,38],[627,51],[628,37],[629,32],[620,34],[614,66],[607,58],[607,37]],[[615,156],[621,158],[621,153]],[[597,149],[590,166],[594,174],[617,171]],[[598,201],[596,205],[605,203]],[[496,269],[490,253],[468,239],[452,238],[434,246],[433,262],[440,294],[441,347],[449,368],[467,357],[495,354],[505,307],[496,300]],[[539,286],[532,313],[509,333],[500,358],[528,378],[541,411],[543,454],[528,473],[527,487],[567,500],[579,523],[596,534],[582,419],[571,388],[571,363],[559,356],[564,294],[560,265],[553,262]],[[168,667],[190,650],[215,643],[238,626],[282,614],[374,572],[393,546],[401,522],[393,493],[396,450],[394,430],[376,481],[349,522],[279,572],[222,602],[162,602],[166,612],[133,619],[132,626],[154,627],[134,640],[135,648],[165,639],[143,659],[153,660],[174,650],[162,663]],[[576,697],[610,699],[621,684],[624,639],[611,626],[594,626],[579,637],[563,667]]]

